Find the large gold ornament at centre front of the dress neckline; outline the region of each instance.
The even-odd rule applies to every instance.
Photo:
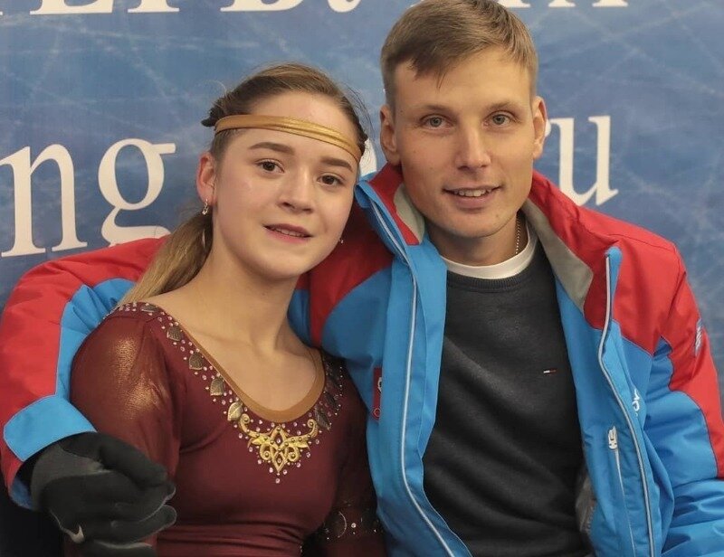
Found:
[[[309,450],[310,440],[317,437],[319,433],[317,421],[311,418],[307,420],[307,427],[310,430],[303,435],[290,435],[283,424],[277,424],[266,432],[253,431],[249,429],[251,420],[249,414],[242,414],[242,417],[238,420],[239,428],[249,436],[246,446],[258,447],[259,458],[271,464],[276,470],[277,476],[284,467],[299,462],[301,451],[303,449]]]

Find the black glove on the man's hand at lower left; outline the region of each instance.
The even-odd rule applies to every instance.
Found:
[[[153,557],[139,543],[176,521],[175,493],[160,464],[103,433],[80,433],[43,449],[30,493],[88,557]]]

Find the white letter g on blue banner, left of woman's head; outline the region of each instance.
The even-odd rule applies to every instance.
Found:
[[[121,149],[127,146],[136,147],[146,159],[148,170],[148,187],[146,195],[138,203],[130,203],[123,198],[119,192],[119,184],[116,181],[116,158]],[[158,237],[168,233],[162,226],[119,226],[116,224],[116,216],[121,211],[138,211],[145,209],[156,201],[158,194],[164,184],[164,162],[161,155],[176,153],[176,145],[173,143],[159,143],[154,145],[143,139],[124,139],[110,146],[103,156],[98,167],[98,184],[100,193],[106,201],[113,205],[113,209],[103,221],[100,227],[100,234],[103,239],[111,245],[124,241],[138,240],[138,238]]]

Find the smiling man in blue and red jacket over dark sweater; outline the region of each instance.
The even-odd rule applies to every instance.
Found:
[[[370,409],[392,554],[724,555],[724,424],[681,259],[670,242],[576,207],[534,173],[546,121],[537,67],[525,26],[495,2],[424,0],[405,12],[382,50],[389,164],[359,184],[361,212],[310,273],[292,317],[310,342],[348,359]],[[23,370],[37,366],[33,377],[54,386],[45,360],[67,374],[82,337],[128,288],[118,278],[138,277],[156,246],[46,265],[8,302],[3,466],[12,480],[39,454],[24,467],[33,496],[69,481],[38,472],[59,458],[62,437],[96,434],[56,401],[76,425],[44,429],[40,445],[21,441],[21,431],[35,439],[35,423],[47,427],[33,401],[62,398],[21,379],[21,347],[39,354]],[[39,309],[32,297],[43,289]],[[58,317],[48,305],[83,324],[49,328]],[[69,452],[111,468],[97,453]],[[62,514],[61,499],[46,506]]]

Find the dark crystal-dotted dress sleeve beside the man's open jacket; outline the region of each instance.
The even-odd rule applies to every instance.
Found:
[[[385,536],[376,516],[375,489],[367,461],[367,413],[362,402],[358,402],[359,419],[349,436],[348,458],[339,477],[335,505],[315,534],[315,551],[310,554],[325,557],[386,555]]]

